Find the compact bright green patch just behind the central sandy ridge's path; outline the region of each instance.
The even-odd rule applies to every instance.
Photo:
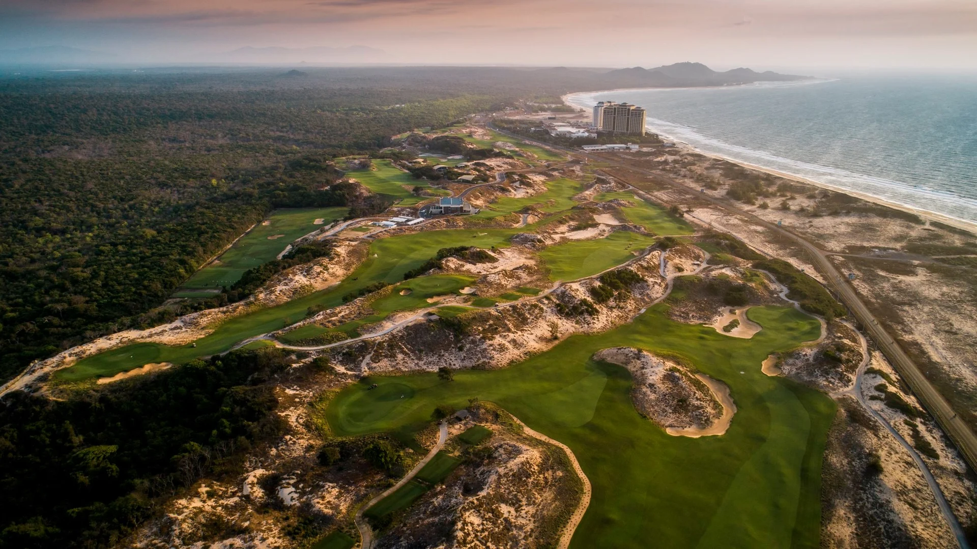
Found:
[[[598,274],[630,259],[634,253],[655,243],[655,238],[637,232],[612,232],[596,240],[570,240],[539,252],[550,269],[552,280],[575,280]]]

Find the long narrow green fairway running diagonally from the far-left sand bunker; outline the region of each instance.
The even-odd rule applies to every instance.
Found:
[[[476,246],[489,248],[508,245],[509,236],[518,229],[447,230],[417,232],[380,238],[370,244],[368,257],[359,269],[337,286],[315,292],[267,309],[258,309],[233,317],[217,326],[213,333],[191,344],[170,347],[156,343],[127,345],[99,355],[79,360],[71,367],[59,370],[60,379],[78,381],[96,376],[111,376],[131,370],[147,362],[168,361],[176,364],[199,357],[224,353],[242,339],[279,330],[308,314],[313,305],[326,308],[342,305],[343,296],[374,282],[398,283],[404,273],[419,267],[441,248]],[[343,326],[340,326],[342,328]],[[151,357],[151,359],[146,359]]]

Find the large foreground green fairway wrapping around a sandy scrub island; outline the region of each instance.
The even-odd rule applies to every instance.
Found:
[[[760,370],[769,354],[816,339],[819,322],[792,308],[752,308],[748,315],[763,330],[736,339],[669,320],[666,308],[603,334],[573,336],[509,368],[456,371],[450,382],[434,373],[371,377],[344,389],[326,419],[336,436],[353,436],[420,429],[439,404],[497,402],[570,446],[590,480],[590,506],[572,547],[646,547],[649,540],[819,547],[821,462],[834,402]],[[726,383],[738,408],[727,433],[671,437],[642,418],[627,370],[590,359],[618,346],[679,355]],[[379,387],[367,391],[370,383]],[[394,394],[405,398],[387,398]]]

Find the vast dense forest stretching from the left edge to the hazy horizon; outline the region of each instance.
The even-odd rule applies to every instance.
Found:
[[[0,382],[171,320],[158,306],[274,208],[389,204],[330,189],[335,157],[569,85],[497,68],[0,76]]]

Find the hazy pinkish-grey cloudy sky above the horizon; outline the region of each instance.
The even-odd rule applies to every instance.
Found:
[[[365,46],[377,63],[973,71],[977,0],[0,0],[0,49],[52,45],[124,63]]]

